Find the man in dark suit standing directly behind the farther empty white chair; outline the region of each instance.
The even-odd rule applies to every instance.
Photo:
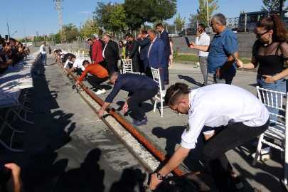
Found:
[[[132,59],[132,70],[133,70],[133,72],[140,72],[139,63],[138,63],[138,60],[139,60],[139,44],[133,38],[131,33],[127,33],[125,36],[126,36],[126,40],[129,41],[128,56],[127,56],[126,60]]]

